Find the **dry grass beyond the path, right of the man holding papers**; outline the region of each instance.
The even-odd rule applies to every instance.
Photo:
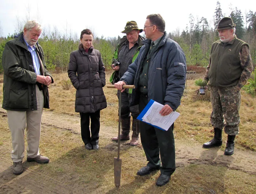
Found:
[[[203,75],[202,75],[203,76]],[[181,116],[175,124],[175,135],[177,139],[190,139],[200,143],[206,142],[213,137],[210,124],[211,102],[210,94],[206,91],[206,95],[197,94],[198,86],[195,80],[191,79],[187,82],[187,90],[181,99],[181,105],[177,111]],[[241,91],[242,101],[240,106],[240,133],[236,137],[236,144],[243,148],[256,150],[256,102],[244,90]],[[226,141],[227,136],[223,132],[223,140]],[[222,145],[224,148],[225,145]]]

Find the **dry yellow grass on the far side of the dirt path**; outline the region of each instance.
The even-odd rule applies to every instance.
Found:
[[[106,72],[107,84],[110,84],[109,77],[112,71]],[[63,83],[67,83],[68,75],[53,74],[54,84],[50,85],[50,109],[56,113],[76,115],[75,112],[75,88],[71,86],[69,90],[63,89]],[[195,79],[202,78],[203,74],[191,75],[187,80],[187,89],[181,99],[181,105],[177,109],[181,116],[175,123],[175,137],[177,139],[192,140],[199,143],[208,141],[213,137],[210,124],[211,102],[210,92],[206,90],[205,95],[197,94],[198,86],[195,85]],[[3,75],[0,75],[0,79]],[[3,87],[3,83],[0,83]],[[108,108],[101,111],[101,122],[106,126],[118,126],[118,99],[116,89],[103,88]],[[242,101],[240,108],[240,134],[236,142],[241,147],[249,150],[256,150],[256,101],[249,94],[242,90]],[[2,100],[3,90],[0,90],[0,100]],[[223,132],[223,139],[226,141],[226,135]],[[222,145],[223,147],[225,145]]]

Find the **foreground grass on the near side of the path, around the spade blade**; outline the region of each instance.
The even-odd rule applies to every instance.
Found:
[[[0,128],[6,126],[6,118],[0,117]],[[1,130],[2,131],[2,130]],[[4,127],[2,133],[8,131]],[[10,143],[10,134],[1,136],[4,144]],[[41,153],[51,158],[47,165],[25,163],[30,171],[45,173],[52,180],[58,180],[65,186],[72,187],[74,193],[107,194],[169,194],[169,193],[254,193],[256,176],[245,172],[230,170],[226,167],[196,165],[178,167],[172,175],[172,181],[163,187],[157,187],[155,181],[159,172],[147,176],[136,176],[136,171],[146,164],[140,147],[122,147],[121,187],[114,187],[113,158],[116,157],[116,145],[101,139],[101,148],[97,151],[84,150],[82,140],[71,131],[56,128],[42,128]],[[2,156],[10,157],[10,153]],[[26,156],[25,156],[26,157]],[[210,173],[209,173],[210,172]],[[26,179],[24,177],[23,179]],[[54,186],[56,182],[48,183]],[[41,181],[45,184],[45,180]],[[50,185],[49,185],[50,184]],[[52,184],[52,185],[51,185]]]

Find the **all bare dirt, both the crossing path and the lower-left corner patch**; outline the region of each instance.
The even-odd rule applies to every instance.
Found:
[[[6,111],[2,108],[0,108],[0,116],[6,116]],[[60,133],[68,130],[74,134],[80,134],[80,117],[44,111],[42,127],[57,128]],[[116,129],[101,125],[101,138],[110,140],[114,135],[116,135]],[[176,140],[175,145],[177,168],[189,164],[207,164],[256,175],[256,152],[235,148],[234,155],[226,156],[218,148],[204,149],[200,144],[191,145]],[[0,193],[19,193],[19,190],[26,190],[27,193],[34,193],[37,190],[40,191],[37,193],[75,193],[74,188],[65,187],[62,184],[61,178],[52,179],[40,171],[33,172],[33,170],[26,169],[19,176],[13,175],[11,158],[8,157],[10,149],[8,149],[4,148],[0,151]],[[9,153],[6,154],[7,152]],[[38,181],[43,184],[38,184]]]

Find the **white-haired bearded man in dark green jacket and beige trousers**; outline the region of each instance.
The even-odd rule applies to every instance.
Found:
[[[37,42],[41,32],[41,24],[29,20],[23,32],[8,41],[3,51],[3,108],[7,110],[12,134],[11,158],[15,175],[23,172],[25,129],[27,162],[49,162],[49,158],[39,152],[42,112],[43,108],[49,108],[47,86],[53,83],[42,47]]]

